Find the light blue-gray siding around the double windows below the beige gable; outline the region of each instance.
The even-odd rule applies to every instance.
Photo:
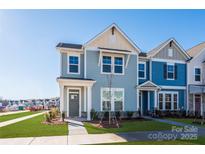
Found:
[[[101,66],[98,66],[99,52],[87,51],[87,78],[95,79],[92,88],[92,108],[99,111],[101,107],[101,88],[108,87],[107,75],[101,74]],[[126,61],[126,58],[125,58]],[[136,110],[136,84],[137,84],[137,56],[132,55],[124,75],[114,75],[113,88],[124,88],[124,109]]]

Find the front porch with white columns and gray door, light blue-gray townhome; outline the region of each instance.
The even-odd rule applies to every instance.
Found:
[[[66,118],[91,120],[92,79],[58,78],[60,87],[60,112]]]

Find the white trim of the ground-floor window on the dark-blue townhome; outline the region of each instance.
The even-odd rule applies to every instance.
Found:
[[[166,106],[166,102],[165,102],[165,94],[171,94],[171,111],[174,110],[179,110],[179,92],[176,91],[161,91],[158,93],[158,108],[159,108],[159,95],[162,94],[162,111],[166,111],[167,109],[165,109]],[[174,94],[177,95],[177,109],[174,109]]]

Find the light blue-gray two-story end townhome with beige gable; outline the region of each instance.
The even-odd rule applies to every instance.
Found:
[[[67,117],[90,111],[137,111],[140,49],[116,25],[85,43],[59,43],[60,111]],[[110,97],[111,95],[111,97]],[[86,115],[84,115],[86,113]]]

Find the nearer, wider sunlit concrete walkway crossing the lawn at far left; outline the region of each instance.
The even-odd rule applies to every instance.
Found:
[[[47,111],[44,111],[44,112],[41,112],[41,113],[32,114],[32,115],[29,115],[29,116],[24,116],[24,117],[16,118],[16,119],[12,119],[12,120],[8,120],[8,121],[4,121],[4,122],[0,122],[0,127],[4,127],[4,126],[11,125],[11,124],[14,124],[14,123],[26,120],[26,119],[30,119],[30,118],[42,115],[45,112],[47,112]]]

